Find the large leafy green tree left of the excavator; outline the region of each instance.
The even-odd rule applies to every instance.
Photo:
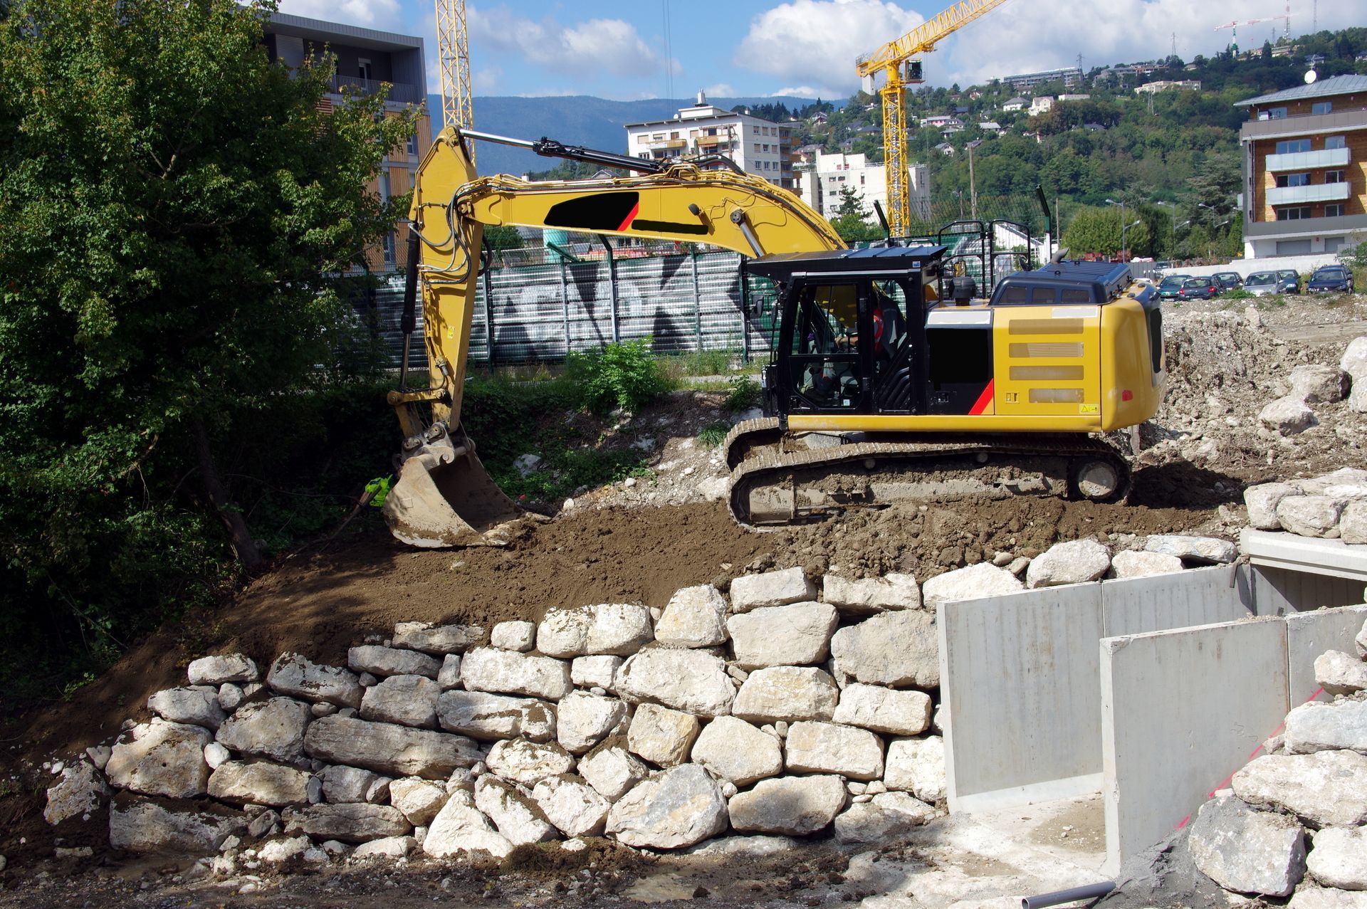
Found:
[[[271,0],[11,0],[0,21],[0,632],[113,637],[261,533],[220,465],[338,376],[324,275],[407,200],[368,190],[416,112],[331,57],[271,63]],[[317,466],[314,466],[317,470]],[[219,524],[227,530],[215,530]],[[139,612],[141,610],[141,612]],[[122,625],[120,625],[122,622]]]

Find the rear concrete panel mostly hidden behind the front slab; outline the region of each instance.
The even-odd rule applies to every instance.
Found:
[[[1237,622],[1248,615],[1233,565],[1102,584],[1106,637]]]

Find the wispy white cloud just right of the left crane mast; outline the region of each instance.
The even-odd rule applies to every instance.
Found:
[[[588,19],[560,25],[547,16],[534,22],[507,7],[468,10],[470,45],[485,53],[517,53],[525,62],[570,75],[607,71],[617,75],[655,75],[664,62],[636,26],[623,19]],[[671,66],[678,64],[671,62]]]

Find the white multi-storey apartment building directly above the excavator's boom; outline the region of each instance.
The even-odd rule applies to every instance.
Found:
[[[647,161],[725,154],[746,174],[794,189],[793,130],[748,113],[733,113],[697,101],[668,120],[626,124],[626,153]],[[720,165],[716,165],[720,167]]]

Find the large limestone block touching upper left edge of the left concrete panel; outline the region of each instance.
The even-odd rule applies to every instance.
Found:
[[[931,599],[930,584],[934,580],[925,582],[927,600]],[[848,625],[831,638],[831,664],[838,678],[891,688],[936,688],[939,638],[935,614],[921,610],[883,612],[858,625]]]

